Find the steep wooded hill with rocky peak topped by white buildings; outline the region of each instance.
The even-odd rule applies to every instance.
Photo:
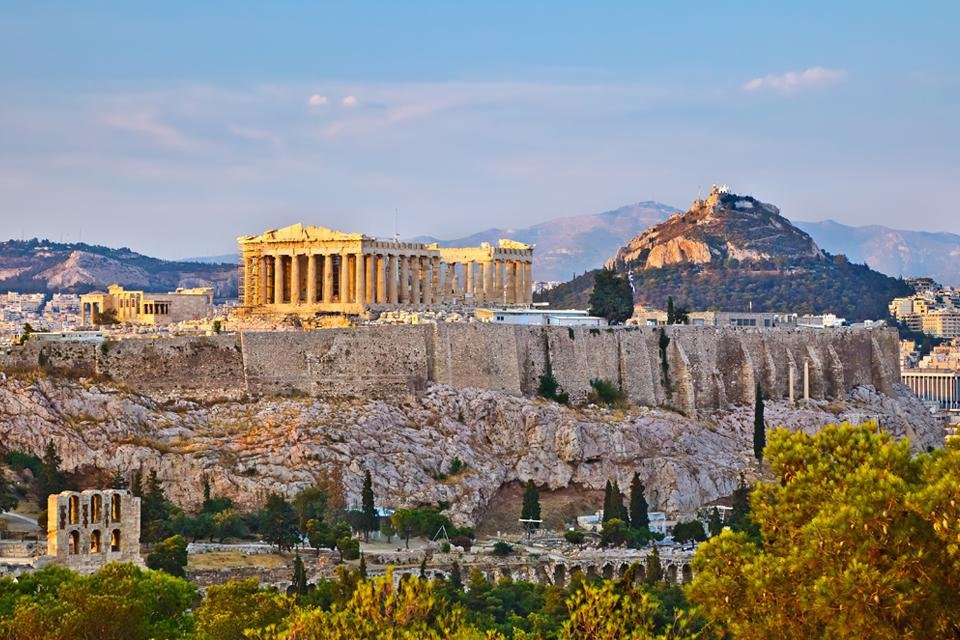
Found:
[[[629,277],[636,303],[664,309],[832,312],[851,320],[884,318],[909,286],[845,256],[822,250],[780,210],[751,196],[714,189],[686,213],[670,216],[620,247],[606,267]],[[584,307],[588,273],[538,296]]]

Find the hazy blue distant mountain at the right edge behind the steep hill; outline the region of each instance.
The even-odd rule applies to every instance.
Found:
[[[902,231],[880,225],[851,227],[833,220],[797,222],[831,253],[865,262],[891,276],[930,276],[960,286],[960,235]]]

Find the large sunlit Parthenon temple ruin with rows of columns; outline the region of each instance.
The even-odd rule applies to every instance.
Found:
[[[448,248],[295,224],[241,236],[240,299],[258,313],[359,315],[533,300],[533,246]]]

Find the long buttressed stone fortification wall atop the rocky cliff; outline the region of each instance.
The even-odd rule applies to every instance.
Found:
[[[41,353],[43,354],[41,356]],[[899,380],[893,329],[366,326],[127,339],[105,347],[31,343],[0,353],[0,369],[38,366],[99,374],[154,397],[209,400],[308,394],[395,398],[436,382],[533,395],[549,367],[579,402],[590,380],[616,383],[637,403],[692,415],[770,398],[841,398],[857,385],[890,393]]]

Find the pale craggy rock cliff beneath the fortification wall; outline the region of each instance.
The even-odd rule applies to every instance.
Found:
[[[813,431],[838,420],[879,419],[915,448],[943,432],[905,388],[891,395],[859,386],[833,402],[767,404],[771,426]],[[348,500],[359,503],[364,469],[390,506],[448,500],[461,523],[474,523],[498,489],[533,480],[548,489],[628,486],[640,473],[653,509],[689,513],[729,495],[756,469],[752,407],[699,419],[660,409],[627,412],[497,391],[431,385],[390,401],[261,398],[219,403],[158,403],[108,383],[10,378],[0,383],[0,442],[41,454],[53,442],[67,470],[158,471],[183,506],[202,499],[202,474],[215,493],[254,507],[272,491],[292,495],[321,470],[342,471]],[[465,471],[438,472],[459,457]]]

